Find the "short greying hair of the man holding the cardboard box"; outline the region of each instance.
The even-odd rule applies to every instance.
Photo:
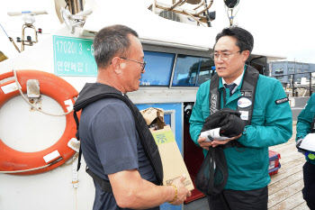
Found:
[[[104,27],[94,39],[94,59],[98,68],[106,68],[114,56],[127,57],[130,48],[128,35],[139,37],[138,33],[121,24]]]

